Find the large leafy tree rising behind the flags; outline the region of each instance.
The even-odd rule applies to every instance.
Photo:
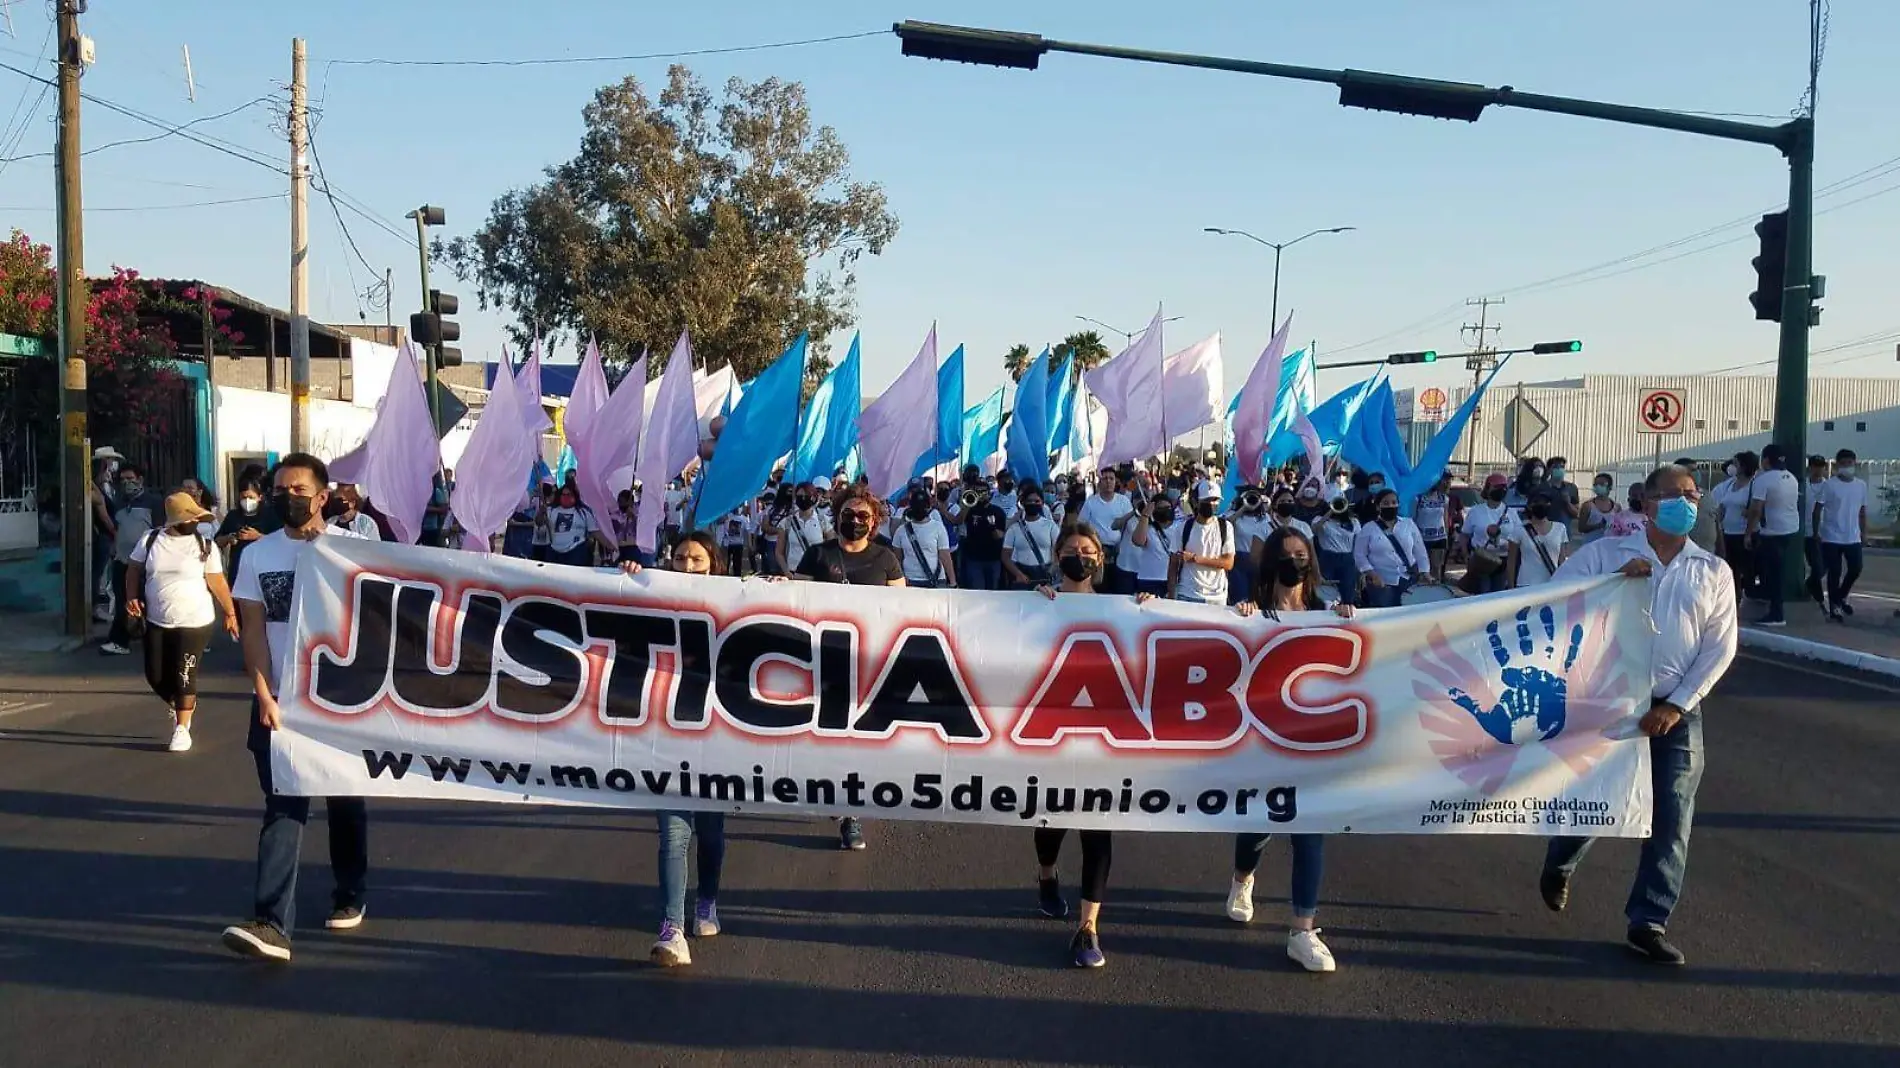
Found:
[[[823,361],[851,317],[853,266],[884,251],[897,217],[878,184],[851,181],[804,86],[733,78],[714,99],[673,67],[657,103],[625,78],[581,116],[572,160],[496,200],[471,238],[435,245],[483,308],[515,314],[515,342],[591,333],[602,352],[665,361],[686,329],[707,367],[752,378],[806,331]]]

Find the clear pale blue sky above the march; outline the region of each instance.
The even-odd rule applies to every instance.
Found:
[[[17,38],[0,38],[0,59],[34,67],[46,17],[44,4],[15,0]],[[291,38],[304,36],[312,95],[321,97],[315,144],[329,179],[399,232],[403,213],[428,201],[448,209],[450,234],[466,234],[498,194],[574,154],[580,112],[595,87],[623,74],[659,84],[667,61],[526,68],[329,61],[650,53],[876,30],[906,17],[1763,116],[1786,116],[1807,76],[1805,0],[93,0],[84,29],[97,40],[99,63],[86,89],[190,122],[281,95]],[[1889,160],[1900,163],[1892,125],[1900,4],[1843,0],[1830,36],[1818,114],[1822,188]],[[184,97],[179,49],[186,44],[196,103]],[[1271,251],[1206,236],[1203,226],[1269,239],[1317,226],[1358,228],[1286,253],[1281,308],[1296,312],[1298,338],[1319,340],[1322,361],[1383,334],[1391,336],[1340,357],[1459,350],[1463,300],[1499,291],[1509,291],[1497,310],[1505,344],[1586,340],[1581,357],[1518,363],[1522,378],[1586,369],[1693,372],[1775,353],[1773,325],[1756,323],[1746,302],[1752,217],[1786,198],[1786,167],[1767,148],[1497,108],[1474,125],[1349,110],[1326,86],[1070,55],[1047,57],[1037,72],[927,63],[902,59],[889,36],[690,63],[714,86],[733,74],[804,82],[815,118],[851,148],[855,175],[889,194],[902,230],[859,270],[872,391],[897,374],[933,319],[944,352],[969,346],[975,403],[1003,380],[999,355],[1011,342],[1056,340],[1081,327],[1075,315],[1140,329],[1165,302],[1170,315],[1184,315],[1168,327],[1170,350],[1224,331],[1231,393],[1271,333]],[[0,108],[21,93],[25,110],[38,86],[0,72]],[[25,124],[15,152],[51,148],[49,114],[48,101]],[[264,108],[196,129],[272,160],[287,154]],[[152,133],[87,106],[87,146]],[[86,162],[86,198],[95,209],[281,188],[281,175],[177,137]],[[1818,353],[1818,374],[1896,371],[1894,192],[1900,167],[1816,203],[1826,211],[1816,222],[1816,270],[1828,276],[1830,296],[1814,348],[1885,336]],[[1847,203],[1868,194],[1889,196]],[[8,224],[49,238],[49,162],[21,160],[0,171],[0,205]],[[314,312],[352,321],[352,287],[369,285],[370,274],[342,243],[327,203],[314,198],[310,215]],[[1744,217],[1624,266],[1733,239],[1704,255],[1585,285],[1514,289]],[[287,201],[89,211],[87,266],[200,276],[283,306],[287,219]],[[395,268],[401,321],[418,302],[412,243],[344,219],[370,264]],[[460,291],[473,308],[471,287]],[[464,350],[471,357],[492,352],[500,321],[464,319]],[[1345,386],[1349,374],[1324,374],[1320,390]],[[1457,380],[1463,372],[1454,367],[1398,371],[1402,386]]]

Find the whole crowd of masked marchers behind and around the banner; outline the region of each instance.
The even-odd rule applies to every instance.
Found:
[[[279,726],[276,654],[289,639],[296,557],[319,536],[388,540],[388,523],[355,486],[332,485],[314,456],[291,454],[268,473],[247,471],[238,481],[236,507],[222,517],[198,481],[160,500],[135,466],[106,454],[99,460],[95,523],[110,555],[108,589],[116,593],[112,637],[103,648],[129,652],[142,623],[146,677],[175,715],[173,751],[190,749],[196,669],[213,631],[222,625],[241,640],[255,692],[249,747],[266,811],[255,916],[228,927],[224,943],[247,956],[289,960],[296,855],[312,798],[272,791],[270,732]],[[1408,509],[1378,471],[1341,471],[1322,483],[1286,469],[1227,502],[1220,473],[1191,466],[1123,466],[1092,481],[1058,475],[1047,485],[1007,471],[984,477],[971,466],[954,483],[914,481],[895,502],[842,477],[779,481],[712,523],[694,517],[694,486],[674,481],[661,490],[667,509],[657,553],[635,544],[635,492],[623,492],[602,519],[572,479],[549,479],[528,494],[494,547],[553,564],[619,564],[629,572],[657,564],[709,580],[764,576],[1051,599],[1165,597],[1275,618],[1328,610],[1349,618],[1355,610],[1398,606],[1414,589],[1444,587],[1448,566],[1459,561],[1463,574],[1446,597],[1611,572],[1645,578],[1659,633],[1653,697],[1640,728],[1653,753],[1657,808],[1626,910],[1628,943],[1647,960],[1682,963],[1664,929],[1687,863],[1702,770],[1702,699],[1733,658],[1744,574],[1761,576],[1776,612],[1771,557],[1778,540],[1807,532],[1818,561],[1818,595],[1832,610],[1849,612],[1860,564],[1854,534],[1864,532],[1864,490],[1852,488],[1852,456],[1843,454],[1832,475],[1826,464],[1811,464],[1816,492],[1807,524],[1786,515],[1773,477],[1780,460],[1773,450],[1759,460],[1738,456],[1729,481],[1710,494],[1687,466],[1670,464],[1628,486],[1623,500],[1609,475],[1596,475],[1583,498],[1562,458],[1526,460],[1514,479],[1490,475],[1469,504],[1446,475],[1410,502],[1410,515],[1402,515]],[[452,490],[452,471],[445,471],[424,542],[454,544]],[[1729,542],[1731,528],[1740,542]],[[336,887],[325,925],[350,929],[365,916],[369,817],[361,798],[327,798],[327,806]],[[1083,830],[1077,838],[1083,874],[1070,958],[1079,967],[1100,967],[1112,834]],[[1254,872],[1269,838],[1243,834],[1233,846],[1226,912],[1237,922],[1254,914]],[[1290,838],[1286,952],[1305,969],[1332,971],[1336,958],[1315,925],[1324,836]],[[1051,918],[1072,912],[1056,876],[1064,840],[1064,830],[1045,829],[1034,842],[1036,899]],[[652,948],[659,963],[692,960],[686,853],[694,842],[699,889],[690,933],[705,939],[720,931],[724,817],[659,813],[663,903]],[[842,819],[838,844],[863,849],[863,825]],[[1586,838],[1550,842],[1539,886],[1548,908],[1566,906],[1569,876],[1586,848]]]

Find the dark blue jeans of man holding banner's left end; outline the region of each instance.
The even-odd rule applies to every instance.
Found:
[[[304,849],[304,823],[310,821],[310,798],[283,796],[270,781],[270,730],[256,722],[256,699],[251,701],[251,734],[245,739],[256,762],[256,785],[264,791],[264,829],[256,836],[256,908],[255,916],[277,929],[285,939],[296,924],[296,859]],[[336,889],[332,908],[363,905],[369,876],[369,808],[363,798],[325,798],[331,825],[331,874]]]

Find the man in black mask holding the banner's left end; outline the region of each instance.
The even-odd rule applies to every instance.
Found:
[[[310,798],[283,796],[272,789],[270,735],[283,726],[277,711],[277,665],[291,642],[291,602],[296,593],[296,561],[319,536],[353,538],[323,521],[331,473],[323,460],[291,452],[272,473],[272,504],[283,528],[251,542],[238,561],[232,599],[243,635],[243,667],[251,680],[251,737],[256,783],[264,791],[264,830],[256,840],[256,912],[224,929],[224,944],[238,954],[289,962],[296,920],[296,865],[310,821]],[[336,891],[323,922],[331,931],[363,924],[363,886],[369,874],[369,810],[363,798],[325,798],[329,808],[331,872]]]

